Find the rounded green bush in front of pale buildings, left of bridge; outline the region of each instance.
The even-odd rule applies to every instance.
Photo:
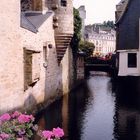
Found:
[[[81,40],[79,43],[79,49],[85,52],[86,57],[92,56],[94,48],[95,46],[91,42]]]

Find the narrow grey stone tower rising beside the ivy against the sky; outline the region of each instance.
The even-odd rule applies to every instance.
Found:
[[[85,33],[85,19],[86,19],[86,10],[85,10],[85,6],[82,5],[78,8],[81,20],[82,20],[82,28],[81,28],[81,35],[82,35],[82,39],[84,39],[84,33]]]

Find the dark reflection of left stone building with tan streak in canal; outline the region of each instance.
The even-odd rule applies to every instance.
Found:
[[[61,127],[65,140],[81,140],[84,112],[89,98],[87,85],[82,84],[80,89],[64,95],[38,114],[36,122],[39,128],[52,130],[54,127]]]

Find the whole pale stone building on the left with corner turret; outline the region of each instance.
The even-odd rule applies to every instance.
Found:
[[[0,16],[0,114],[69,92],[72,0],[2,0]]]

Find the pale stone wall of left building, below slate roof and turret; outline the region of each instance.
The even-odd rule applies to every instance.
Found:
[[[2,0],[1,5],[0,114],[16,108],[30,110],[67,93],[72,83],[71,48],[58,64],[53,14],[33,33],[20,27],[18,0],[8,5]]]

